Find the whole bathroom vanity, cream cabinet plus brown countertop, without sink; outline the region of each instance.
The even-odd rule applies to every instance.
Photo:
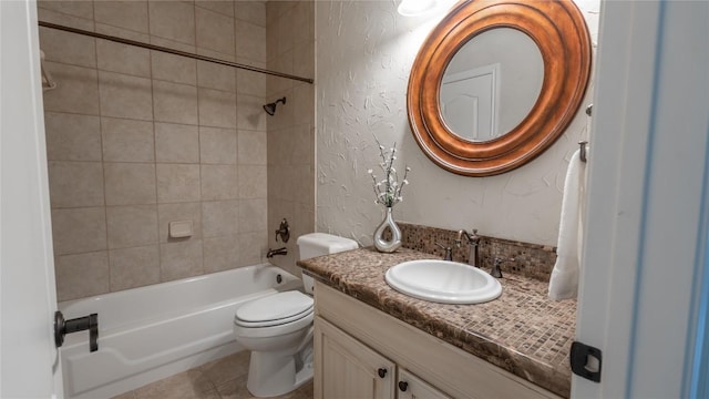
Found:
[[[315,398],[559,398],[571,391],[576,303],[505,272],[476,305],[417,299],[384,280],[434,255],[373,248],[300,260],[315,277]]]

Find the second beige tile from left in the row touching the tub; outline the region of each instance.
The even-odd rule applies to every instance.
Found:
[[[111,291],[160,283],[160,246],[112,249],[109,265]]]

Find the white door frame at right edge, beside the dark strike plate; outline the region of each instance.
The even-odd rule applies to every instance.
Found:
[[[709,2],[600,13],[577,340],[603,351],[577,398],[689,397],[705,273]]]

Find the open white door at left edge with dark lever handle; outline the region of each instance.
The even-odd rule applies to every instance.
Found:
[[[0,397],[62,397],[37,4],[0,1]]]

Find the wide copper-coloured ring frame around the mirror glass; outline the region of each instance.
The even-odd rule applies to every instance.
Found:
[[[495,28],[532,38],[542,53],[544,80],[516,127],[491,141],[471,142],[443,122],[441,80],[463,44]],[[586,22],[571,0],[463,0],[433,29],[413,62],[407,93],[413,136],[431,161],[460,175],[490,176],[520,167],[552,145],[574,119],[590,75],[590,51]]]

